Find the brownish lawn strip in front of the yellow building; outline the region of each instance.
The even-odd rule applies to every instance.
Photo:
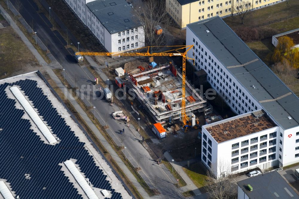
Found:
[[[280,18],[289,17],[291,15],[297,15],[298,6],[299,6],[298,0],[289,0],[288,3],[284,1],[272,6],[267,6],[265,8],[254,10],[248,14],[248,18],[245,19],[244,25],[249,27],[256,26],[258,24],[274,21],[274,19],[280,20]],[[233,16],[233,17],[230,16],[223,20],[233,30],[235,28],[243,26],[242,24],[240,24],[241,20],[238,18],[238,16]],[[295,27],[293,29],[295,29]]]

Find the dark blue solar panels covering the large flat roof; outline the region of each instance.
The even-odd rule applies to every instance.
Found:
[[[108,190],[111,198],[122,198],[112,189],[85,143],[53,107],[48,99],[52,93],[45,94],[38,86],[40,81],[16,79],[0,81],[0,179],[10,183],[20,198],[85,198],[62,171],[61,163],[73,159],[95,188]],[[18,86],[28,97],[42,120],[59,137],[59,143],[50,145],[41,139],[19,102],[8,96],[11,86]]]

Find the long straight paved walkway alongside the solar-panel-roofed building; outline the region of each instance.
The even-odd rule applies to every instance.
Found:
[[[77,103],[77,101],[71,96],[71,94],[68,92],[68,89],[65,88],[65,86],[62,84],[62,82],[60,81],[60,79],[52,71],[51,67],[45,62],[45,60],[37,52],[37,50],[34,48],[34,46],[31,44],[31,42],[27,39],[27,37],[19,29],[19,27],[15,26],[15,23],[13,22],[13,20],[11,19],[11,17],[3,9],[3,7],[1,5],[0,5],[0,10],[1,10],[1,14],[4,14],[6,16],[6,19],[9,19],[11,27],[13,29],[16,27],[17,33],[20,36],[20,38],[23,40],[23,42],[25,43],[25,45],[27,45],[27,47],[33,53],[33,55],[36,57],[36,59],[38,59],[41,62],[42,67],[49,74],[49,76],[56,82],[57,86],[62,90],[62,92],[67,95],[66,97],[68,98],[68,100],[71,102],[71,104],[77,110],[77,112],[81,115],[81,117],[85,120],[85,122],[89,125],[89,127],[91,128],[91,130],[97,135],[97,137],[99,138],[100,142],[103,144],[103,146],[106,148],[106,150],[111,154],[111,156],[114,158],[114,160],[118,163],[118,166],[123,169],[123,172],[131,180],[131,182],[136,187],[136,189],[138,190],[138,192],[143,196],[143,198],[156,198],[156,197],[149,197],[149,195],[147,194],[147,192],[138,183],[138,181],[136,180],[136,178],[129,171],[129,169],[126,167],[126,165],[123,163],[123,160],[112,149],[112,147],[110,146],[110,144],[103,137],[103,135],[100,133],[100,131],[97,129],[97,127],[92,123],[92,121],[89,119],[89,117],[86,116],[86,113],[84,112],[84,110],[80,107],[80,105]],[[57,67],[60,67],[60,66],[57,66]]]

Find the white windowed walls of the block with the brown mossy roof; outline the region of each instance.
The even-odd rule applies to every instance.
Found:
[[[278,126],[221,143],[217,143],[206,129],[245,115],[247,114],[202,126],[202,163],[209,169],[213,170],[216,168],[216,165],[213,166],[213,164],[221,163],[222,167],[225,167],[222,169],[231,168],[227,173],[238,173],[255,167],[266,169],[277,164]],[[217,166],[218,176],[221,175],[219,172],[219,166]]]

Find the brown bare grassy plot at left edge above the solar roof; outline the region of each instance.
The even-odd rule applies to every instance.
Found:
[[[0,78],[40,69],[36,58],[10,26],[0,29],[0,63]]]

